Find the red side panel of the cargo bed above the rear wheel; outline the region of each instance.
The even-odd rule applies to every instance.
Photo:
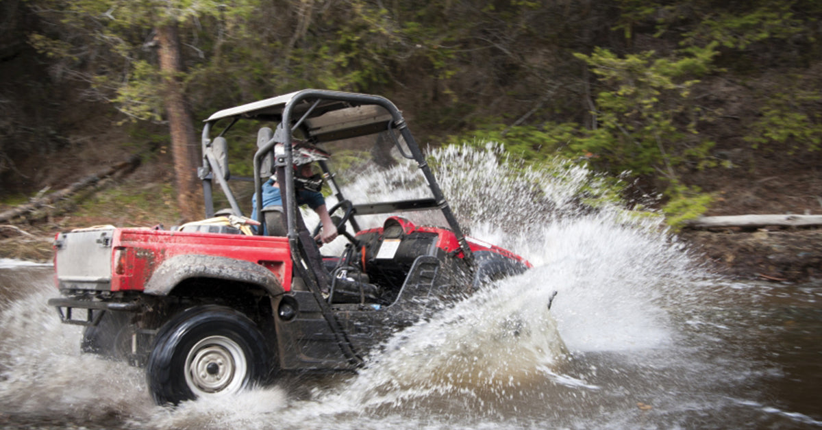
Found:
[[[285,291],[291,289],[292,261],[286,238],[117,229],[112,245],[112,291],[144,289],[145,283],[163,261],[184,254],[251,261],[271,270]]]

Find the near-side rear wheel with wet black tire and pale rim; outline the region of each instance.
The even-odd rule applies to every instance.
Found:
[[[229,307],[192,307],[160,328],[145,377],[158,405],[229,395],[263,382],[266,340],[256,324]]]

